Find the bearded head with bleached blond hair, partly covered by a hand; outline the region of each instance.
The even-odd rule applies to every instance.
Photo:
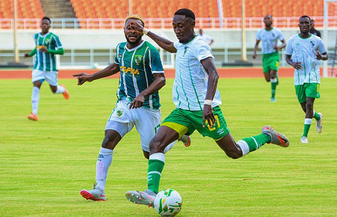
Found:
[[[144,21],[144,18],[138,14],[129,14],[125,18],[124,35],[125,35],[126,41],[127,43],[131,45],[137,45],[142,40],[143,33],[138,32],[135,29],[131,28],[129,24],[130,21],[137,22],[142,26],[145,25],[145,21]]]

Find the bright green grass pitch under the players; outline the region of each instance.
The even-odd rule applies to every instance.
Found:
[[[172,79],[161,90],[162,115],[174,108]],[[76,86],[60,80],[70,99],[40,92],[39,121],[29,121],[30,80],[0,80],[0,216],[159,216],[125,199],[127,190],[145,190],[147,160],[133,129],[115,148],[106,202],[84,200],[91,189],[104,127],[116,101],[118,80]],[[179,217],[337,216],[337,80],[322,79],[314,109],[324,114],[323,133],[311,126],[301,144],[304,112],[291,78],[281,78],[277,102],[263,78],[220,79],[222,110],[237,141],[260,134],[271,124],[288,136],[289,148],[264,145],[232,160],[210,138],[195,132],[192,145],[181,143],[166,155],[161,187],[183,200]]]

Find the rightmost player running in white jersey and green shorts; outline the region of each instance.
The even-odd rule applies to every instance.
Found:
[[[314,102],[320,98],[320,67],[318,60],[327,60],[328,53],[323,40],[309,33],[310,17],[299,18],[299,34],[290,37],[285,49],[286,62],[295,68],[294,85],[298,102],[305,112],[304,131],[301,143],[308,143],[312,118],[316,119],[317,133],[321,133],[322,113],[314,111]]]

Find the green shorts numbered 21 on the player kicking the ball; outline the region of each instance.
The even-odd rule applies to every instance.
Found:
[[[214,140],[220,140],[229,133],[225,117],[220,107],[213,108],[214,117],[217,120],[215,127],[210,127],[206,120],[206,126],[203,127],[202,110],[190,111],[184,109],[174,109],[169,116],[165,118],[162,126],[168,126],[179,133],[179,137],[184,134],[191,135],[197,130],[202,136],[208,136]]]

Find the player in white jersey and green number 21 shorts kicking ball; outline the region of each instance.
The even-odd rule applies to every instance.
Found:
[[[264,126],[257,136],[234,141],[220,108],[221,97],[217,90],[219,74],[214,56],[206,42],[195,35],[195,15],[190,9],[182,8],[174,13],[172,25],[178,42],[160,37],[137,22],[130,24],[166,51],[176,53],[176,61],[172,88],[175,109],[165,118],[150,142],[148,188],[144,192],[127,191],[125,196],[129,201],[154,206],[165,164],[165,147],[186,133],[192,134],[194,130],[211,137],[232,159],[243,157],[265,143],[288,147],[289,140],[269,125]]]

